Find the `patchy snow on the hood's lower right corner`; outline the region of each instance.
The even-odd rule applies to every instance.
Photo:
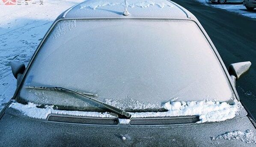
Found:
[[[252,130],[246,130],[244,132],[241,132],[241,131],[227,132],[222,135],[218,135],[216,138],[212,138],[213,141],[217,139],[241,140],[243,142],[246,142],[247,144],[256,144],[256,136],[254,135]]]

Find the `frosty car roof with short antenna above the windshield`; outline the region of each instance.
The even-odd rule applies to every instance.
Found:
[[[86,0],[63,12],[60,18],[154,18],[190,19],[188,10],[170,0],[126,0],[129,16],[124,16],[125,0]]]

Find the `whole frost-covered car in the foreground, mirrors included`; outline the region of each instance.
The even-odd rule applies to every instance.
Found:
[[[0,146],[255,147],[235,89],[250,65],[227,70],[172,1],[87,0],[55,20],[27,67],[12,63]]]

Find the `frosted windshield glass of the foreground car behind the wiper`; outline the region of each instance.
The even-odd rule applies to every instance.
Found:
[[[76,95],[25,86],[96,93],[98,100],[122,109],[161,107],[172,99],[233,98],[210,44],[189,20],[62,20],[36,55],[20,98],[91,106]]]

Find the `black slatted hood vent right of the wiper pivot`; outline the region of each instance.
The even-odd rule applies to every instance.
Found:
[[[198,116],[158,117],[158,118],[132,118],[131,125],[176,125],[193,124],[199,121]]]

